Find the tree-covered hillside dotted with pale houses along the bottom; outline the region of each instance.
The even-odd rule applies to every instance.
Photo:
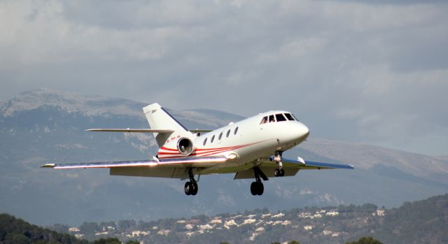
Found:
[[[71,229],[83,238],[137,238],[144,243],[346,243],[372,236],[383,243],[448,243],[448,194],[382,209],[373,204],[267,209],[153,222],[121,220]]]

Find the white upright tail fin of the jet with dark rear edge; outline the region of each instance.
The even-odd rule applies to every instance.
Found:
[[[167,110],[162,108],[159,103],[153,103],[143,108],[149,126],[151,129],[172,129],[173,133],[183,136],[190,135],[190,131],[183,127]],[[165,144],[171,133],[154,133],[155,140],[159,147]]]

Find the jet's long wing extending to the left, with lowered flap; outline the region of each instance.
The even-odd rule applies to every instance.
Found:
[[[84,162],[68,164],[44,164],[41,168],[110,168],[111,175],[146,176],[162,178],[188,178],[188,168],[204,168],[221,164],[227,160],[223,156],[181,157],[174,159],[144,159],[116,162]]]

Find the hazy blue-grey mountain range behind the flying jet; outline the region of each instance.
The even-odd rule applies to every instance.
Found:
[[[155,101],[148,101],[152,103]],[[55,171],[49,162],[151,158],[151,134],[87,133],[90,128],[148,128],[148,103],[38,89],[0,103],[0,212],[36,224],[79,224],[120,219],[155,220],[198,214],[235,213],[301,206],[375,203],[399,206],[448,190],[446,157],[430,157],[313,138],[285,157],[353,164],[354,171],[300,171],[270,179],[254,197],[252,180],[204,175],[197,196],[183,194],[175,179],[109,176],[109,170]],[[162,104],[163,106],[163,104]],[[190,129],[214,129],[239,115],[217,110],[170,110]],[[254,114],[264,112],[254,111]],[[335,128],[337,129],[337,128]]]

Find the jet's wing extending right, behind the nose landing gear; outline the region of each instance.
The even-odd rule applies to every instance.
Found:
[[[266,177],[274,177],[274,169],[277,167],[276,163],[273,162],[273,157],[269,157],[266,161],[258,165],[258,168]],[[346,168],[353,169],[352,165],[347,164],[330,164],[314,161],[304,161],[302,158],[298,157],[297,160],[282,159],[283,169],[285,170],[284,176],[294,176],[298,171],[302,169],[332,169],[332,168]],[[235,180],[237,179],[251,179],[254,177],[253,168],[249,168],[244,171],[239,171],[235,174]]]

